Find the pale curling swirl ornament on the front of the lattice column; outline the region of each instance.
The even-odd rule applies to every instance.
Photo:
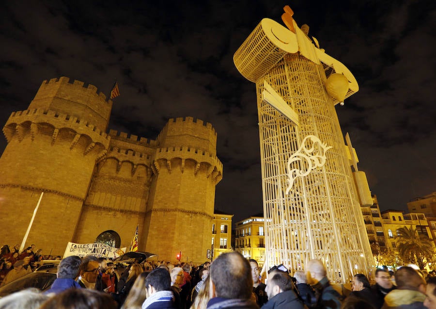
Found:
[[[311,146],[306,145],[308,140],[311,140]],[[308,135],[303,139],[300,148],[288,159],[287,175],[289,186],[286,188],[286,194],[289,194],[289,191],[291,191],[297,177],[307,176],[312,170],[326,163],[326,152],[330,148],[333,147],[323,144],[321,140],[314,135]],[[302,168],[292,168],[293,163],[297,161],[301,162],[300,166],[302,166]]]

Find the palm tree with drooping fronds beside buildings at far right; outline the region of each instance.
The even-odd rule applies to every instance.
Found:
[[[433,260],[435,246],[428,236],[418,233],[416,228],[399,228],[395,237],[400,257],[408,263],[417,264],[423,269],[427,262]]]

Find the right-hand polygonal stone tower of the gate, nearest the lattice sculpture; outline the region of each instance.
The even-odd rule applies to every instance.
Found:
[[[152,165],[156,179],[145,213],[145,247],[162,252],[170,260],[180,251],[183,261],[205,260],[205,248],[211,247],[208,235],[215,186],[222,178],[222,164],[216,155],[217,133],[210,123],[177,118],[167,123],[156,144]]]

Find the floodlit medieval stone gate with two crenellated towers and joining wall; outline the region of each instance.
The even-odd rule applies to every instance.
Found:
[[[95,86],[61,77],[11,114],[0,214],[13,224],[0,227],[2,242],[21,243],[44,192],[28,244],[59,255],[68,242],[128,248],[138,226],[140,250],[202,262],[222,179],[216,131],[186,117],[170,119],[156,140],[107,133],[111,108]]]

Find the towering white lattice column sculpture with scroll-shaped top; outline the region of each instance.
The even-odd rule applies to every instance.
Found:
[[[374,267],[335,111],[358,84],[287,12],[289,29],[265,18],[234,54],[239,72],[256,83],[265,263],[297,270],[321,259],[332,282],[350,282]],[[348,85],[330,79],[330,97],[332,74]]]

